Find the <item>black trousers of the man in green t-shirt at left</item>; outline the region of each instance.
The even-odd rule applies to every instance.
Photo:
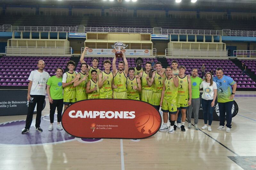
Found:
[[[54,122],[54,113],[57,107],[57,119],[58,122],[61,122],[62,108],[63,108],[63,99],[53,100],[53,104],[50,103],[50,122]]]

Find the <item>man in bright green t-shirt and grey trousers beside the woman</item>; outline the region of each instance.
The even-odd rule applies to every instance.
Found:
[[[189,105],[187,109],[187,122],[188,122],[187,128],[191,129],[191,115],[193,110],[195,130],[198,130],[197,123],[198,123],[198,112],[200,107],[199,86],[203,81],[200,77],[197,76],[197,74],[198,74],[197,69],[193,69],[192,76],[190,77],[191,88],[192,88],[192,97],[191,97],[192,100],[191,100],[191,105]]]

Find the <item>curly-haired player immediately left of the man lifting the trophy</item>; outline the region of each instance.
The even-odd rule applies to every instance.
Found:
[[[113,73],[110,71],[111,61],[103,62],[105,70],[99,74],[100,99],[112,99]]]

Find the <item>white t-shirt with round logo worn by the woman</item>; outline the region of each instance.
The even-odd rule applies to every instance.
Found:
[[[200,88],[203,88],[203,94],[202,99],[204,100],[213,100],[214,98],[214,92],[213,89],[217,89],[217,85],[215,82],[210,86],[210,83],[207,83],[206,81],[203,81],[200,84]]]

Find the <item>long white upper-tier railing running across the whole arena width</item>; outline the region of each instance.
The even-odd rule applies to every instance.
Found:
[[[109,32],[109,33],[154,33],[154,28],[104,28],[104,27],[62,27],[62,26],[0,26],[0,32],[69,32],[69,33],[86,33],[86,32]],[[223,36],[244,36],[256,37],[256,31],[232,31],[223,30],[189,30],[189,29],[160,29],[158,34],[183,34],[183,35],[223,35]]]

